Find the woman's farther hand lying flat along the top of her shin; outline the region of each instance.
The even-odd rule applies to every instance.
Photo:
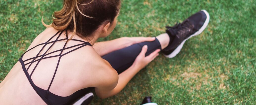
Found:
[[[155,37],[122,37],[123,42],[125,42],[125,47],[130,45],[141,43],[141,42],[151,42],[154,41]]]

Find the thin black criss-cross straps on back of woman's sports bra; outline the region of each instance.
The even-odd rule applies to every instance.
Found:
[[[86,46],[86,45],[92,46],[89,42],[85,42],[85,41],[81,41],[81,40],[77,40],[77,39],[69,39],[69,38],[68,38],[67,29],[65,30],[65,31],[66,31],[66,33],[65,33],[65,34],[66,34],[66,38],[64,38],[64,39],[59,39],[59,37],[61,36],[61,34],[63,33],[63,31],[64,31],[64,30],[58,31],[56,34],[54,34],[54,36],[52,36],[52,37],[51,37],[49,40],[47,40],[45,43],[38,44],[38,45],[34,46],[33,48],[31,48],[31,49],[29,49],[29,50],[26,51],[26,52],[28,52],[28,51],[30,51],[30,50],[36,48],[36,47],[39,46],[39,45],[44,45],[44,46],[41,48],[41,50],[37,53],[37,55],[36,55],[35,57],[31,57],[31,58],[29,58],[29,59],[22,60],[23,55],[26,53],[26,52],[25,52],[25,53],[20,57],[20,59],[19,59],[20,63],[22,64],[23,71],[25,72],[25,74],[26,74],[26,76],[27,76],[27,78],[28,78],[28,80],[29,80],[29,83],[30,83],[31,86],[34,88],[34,90],[37,92],[37,94],[38,94],[47,104],[49,104],[49,102],[47,101],[48,94],[49,94],[49,89],[50,89],[50,87],[51,87],[51,85],[52,85],[52,82],[53,82],[53,80],[54,80],[54,77],[55,77],[55,75],[56,75],[56,72],[57,72],[57,69],[58,69],[58,66],[59,66],[61,57],[64,56],[64,55],[66,55],[66,54],[68,54],[68,53],[70,53],[70,52],[72,52],[72,51],[74,51],[74,50],[77,50],[77,49],[79,49],[79,48],[82,48],[82,47],[84,47],[84,46]],[[53,39],[57,34],[59,34],[58,37],[57,37],[54,41],[50,41],[50,40]],[[66,41],[65,44],[63,45],[63,48],[62,48],[62,49],[47,53],[57,41],[63,41],[63,40],[73,40],[73,41],[79,41],[79,42],[83,42],[83,43],[77,44],[77,45],[73,45],[73,46],[70,46],[70,47],[65,48],[66,45],[67,45],[67,43],[68,43],[68,41]],[[50,44],[50,43],[52,43],[52,44],[50,45],[50,47],[49,47],[42,55],[39,55],[39,54],[42,52],[42,50],[45,48],[45,46],[46,46],[47,44]],[[77,47],[77,46],[78,46],[78,47]],[[66,53],[63,53],[64,50],[70,49],[70,48],[74,48],[74,47],[77,47],[77,48],[75,48],[75,49],[73,49],[73,50],[70,50],[70,51],[68,51],[68,52],[66,52]],[[52,53],[55,53],[55,52],[59,52],[59,51],[60,51],[60,53],[59,53],[58,55],[47,56],[47,55],[49,55],[49,54],[52,54]],[[47,57],[46,57],[46,56],[47,56]],[[36,85],[34,84],[33,80],[31,79],[31,76],[32,76],[32,74],[34,73],[34,71],[35,71],[37,65],[39,64],[39,62],[40,62],[42,59],[47,59],[47,58],[57,57],[57,56],[59,56],[59,59],[58,59],[58,62],[57,62],[57,66],[56,66],[56,68],[55,68],[55,72],[54,72],[54,75],[53,75],[53,77],[52,77],[52,79],[51,79],[50,85],[49,85],[48,88],[47,88],[46,97],[44,97],[44,96],[40,93],[40,91],[38,90],[38,88],[36,87]],[[40,57],[40,58],[39,58],[39,57]],[[32,61],[30,61],[30,62],[28,62],[28,63],[24,63],[24,62],[29,61],[29,60],[32,60]],[[31,74],[29,75],[28,69],[29,69],[29,67],[32,65],[32,63],[34,63],[34,62],[37,62],[37,63],[36,63],[36,65],[35,65],[35,67],[33,68]],[[28,65],[28,64],[29,64],[29,66],[26,68],[25,65]]]

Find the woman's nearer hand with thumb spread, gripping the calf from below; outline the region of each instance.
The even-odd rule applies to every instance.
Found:
[[[148,63],[153,61],[156,56],[159,55],[160,49],[155,50],[150,55],[145,56],[147,52],[147,45],[142,47],[141,53],[136,57],[135,61],[133,62],[133,67],[135,67],[138,71],[144,68]]]

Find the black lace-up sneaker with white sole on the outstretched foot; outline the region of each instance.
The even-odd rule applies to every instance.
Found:
[[[166,26],[166,33],[169,37],[172,37],[173,40],[162,50],[162,53],[169,58],[175,57],[182,49],[186,40],[204,31],[209,20],[210,16],[208,12],[201,10],[184,20],[181,24],[178,23],[173,27]]]

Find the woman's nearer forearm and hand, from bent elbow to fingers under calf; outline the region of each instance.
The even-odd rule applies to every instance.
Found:
[[[148,63],[154,60],[156,56],[158,56],[159,51],[160,49],[157,49],[156,51],[145,57],[145,53],[147,52],[147,46],[143,46],[141,53],[137,56],[133,65],[118,75],[118,83],[115,84],[116,86],[109,91],[95,88],[97,96],[99,96],[100,98],[107,98],[118,94],[142,68],[144,68]]]

